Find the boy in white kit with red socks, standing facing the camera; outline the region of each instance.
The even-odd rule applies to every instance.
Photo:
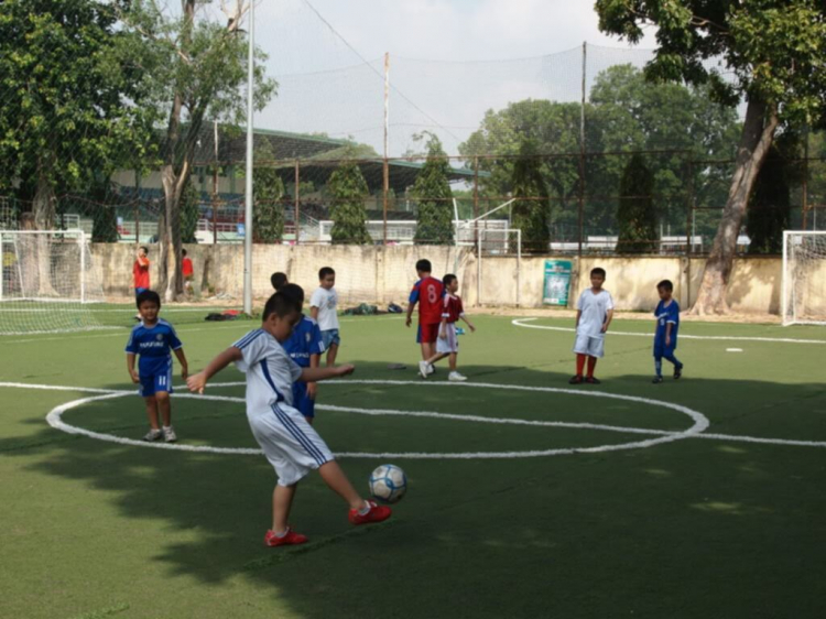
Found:
[[[605,269],[597,267],[590,272],[590,287],[583,292],[576,304],[576,374],[568,381],[579,384],[583,381],[599,384],[594,377],[597,359],[605,355],[605,334],[613,318],[613,300],[605,283]],[[588,360],[588,374],[583,378],[585,361]]]

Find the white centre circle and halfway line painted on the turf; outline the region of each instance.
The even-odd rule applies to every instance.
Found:
[[[556,391],[556,392],[574,393],[578,395],[596,395],[596,397],[608,397],[608,398],[613,397],[616,399],[642,401],[643,403],[653,403],[657,405],[665,404],[666,408],[677,406],[677,405],[667,405],[667,403],[656,402],[656,401],[648,400],[644,398],[633,398],[630,395],[624,397],[624,395],[615,395],[615,394],[601,393],[601,392],[580,392],[580,391],[574,391],[570,389],[555,389],[555,388],[541,388],[541,387],[532,388],[532,387],[521,387],[521,385],[501,385],[501,384],[493,384],[493,383],[458,383],[456,384],[456,383],[444,383],[444,382],[425,383],[421,381],[414,382],[414,381],[374,381],[374,380],[362,380],[362,381],[337,380],[337,381],[329,381],[329,382],[341,383],[341,384],[346,384],[346,383],[387,384],[387,383],[390,383],[390,384],[395,384],[395,385],[399,385],[399,384],[428,385],[428,387],[437,385],[437,387],[448,387],[448,388],[479,387],[479,388],[494,388],[494,389],[517,389],[517,390],[526,390],[526,391]],[[222,382],[222,383],[211,384],[211,387],[214,388],[242,387],[242,385],[244,385],[243,382]],[[62,430],[63,432],[67,432],[69,434],[80,434],[80,435],[85,435],[90,438],[96,438],[99,441],[107,441],[107,442],[119,443],[123,445],[139,446],[139,447],[154,447],[154,448],[163,448],[163,449],[178,449],[178,450],[186,450],[186,452],[199,452],[199,453],[213,453],[213,454],[237,454],[237,455],[261,454],[260,449],[243,448],[243,447],[211,447],[211,446],[206,446],[206,445],[197,446],[197,445],[165,444],[165,443],[144,443],[142,441],[134,441],[131,438],[124,438],[120,436],[113,436],[110,434],[97,433],[97,432],[88,431],[85,428],[72,426],[63,422],[61,419],[63,413],[70,409],[81,406],[84,404],[87,404],[89,402],[94,402],[97,400],[107,400],[111,398],[134,395],[135,391],[95,389],[95,388],[83,388],[83,387],[62,387],[62,385],[51,385],[51,384],[31,384],[31,383],[22,383],[22,382],[0,382],[0,388],[2,387],[20,388],[20,389],[37,389],[37,390],[48,390],[48,391],[77,391],[77,392],[88,392],[88,393],[100,394],[100,395],[93,397],[93,398],[83,398],[80,400],[67,402],[65,404],[62,404],[55,408],[53,411],[48,413],[48,415],[46,416],[46,420],[48,421],[50,425],[58,430]],[[198,395],[198,394],[191,394],[191,393],[180,393],[180,394],[176,394],[175,397],[184,398],[184,399],[199,399],[199,400],[235,402],[235,403],[243,403],[244,401],[242,398],[233,398],[233,397],[227,397],[227,395],[211,395],[211,394]],[[335,411],[335,412],[348,412],[348,413],[366,414],[366,415],[398,415],[398,416],[413,416],[413,417],[447,419],[452,421],[467,421],[467,422],[476,422],[476,423],[529,425],[529,426],[545,426],[545,427],[567,427],[567,428],[578,428],[578,430],[601,430],[601,431],[618,432],[618,433],[648,434],[648,435],[661,437],[660,439],[641,441],[637,443],[623,443],[623,444],[618,444],[618,445],[602,445],[602,446],[597,446],[597,447],[561,448],[561,449],[545,449],[545,450],[530,450],[530,452],[477,452],[477,453],[460,453],[460,454],[430,454],[430,453],[374,454],[374,453],[344,452],[344,453],[338,454],[339,457],[352,457],[352,458],[356,458],[356,457],[359,457],[359,458],[399,457],[399,458],[420,458],[420,459],[422,458],[424,459],[441,459],[441,458],[471,459],[471,458],[540,457],[540,456],[566,455],[566,454],[576,454],[576,453],[598,453],[598,452],[610,452],[610,450],[618,450],[618,449],[650,447],[654,444],[659,444],[662,442],[671,442],[671,441],[676,441],[676,439],[682,439],[682,438],[709,438],[709,439],[716,439],[716,441],[757,443],[757,444],[768,444],[768,445],[826,447],[826,442],[819,442],[819,441],[793,441],[793,439],[785,439],[785,438],[763,438],[763,437],[756,437],[756,436],[741,436],[741,435],[729,435],[729,434],[706,434],[706,433],[703,433],[702,431],[692,432],[694,427],[696,427],[696,424],[692,428],[688,428],[688,431],[674,432],[674,431],[612,426],[612,425],[590,424],[590,423],[543,422],[543,421],[531,421],[531,420],[519,420],[519,419],[485,417],[480,415],[455,415],[455,414],[448,414],[448,413],[433,413],[433,412],[426,412],[426,411],[354,409],[354,408],[348,408],[348,406],[336,406],[336,405],[325,405],[325,404],[319,404],[317,408],[319,410],[327,410],[327,411]],[[699,414],[703,419],[705,419],[705,416],[702,415],[702,413],[697,413],[697,414]],[[705,421],[706,421],[706,426],[707,426],[708,420],[705,420]],[[665,441],[663,441],[663,438]]]

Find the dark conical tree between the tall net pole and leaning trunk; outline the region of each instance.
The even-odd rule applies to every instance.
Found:
[[[651,253],[656,250],[656,209],[654,178],[645,159],[634,153],[620,181],[617,209],[620,253]]]

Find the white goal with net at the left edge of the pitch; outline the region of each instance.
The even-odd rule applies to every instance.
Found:
[[[101,274],[83,230],[0,230],[0,334],[104,327]]]

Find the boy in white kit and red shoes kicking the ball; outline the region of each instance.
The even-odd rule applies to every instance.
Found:
[[[345,476],[326,443],[293,406],[292,384],[315,382],[352,373],[352,366],[300,368],[281,346],[301,319],[294,300],[273,294],[264,306],[260,329],[250,332],[213,359],[205,370],[186,381],[191,391],[203,393],[207,381],[235,362],[247,374],[247,417],[252,435],[279,476],[272,496],[272,529],[264,535],[268,546],[303,544],[305,535],[287,525],[298,481],[318,469],[324,481],[350,507],[352,524],[381,522],[390,508],[363,500]]]

